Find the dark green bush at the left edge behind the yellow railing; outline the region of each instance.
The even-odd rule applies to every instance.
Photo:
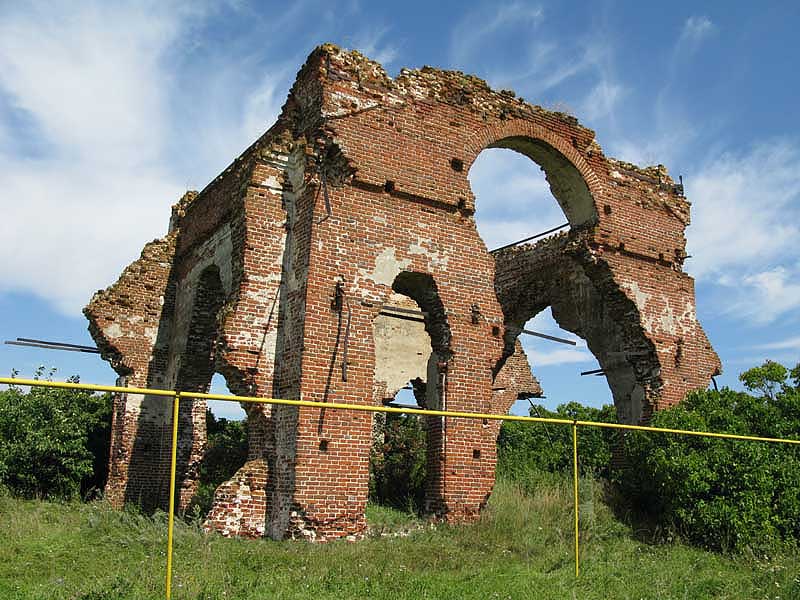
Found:
[[[0,483],[35,498],[69,499],[102,488],[110,427],[109,394],[11,386],[0,392]]]

